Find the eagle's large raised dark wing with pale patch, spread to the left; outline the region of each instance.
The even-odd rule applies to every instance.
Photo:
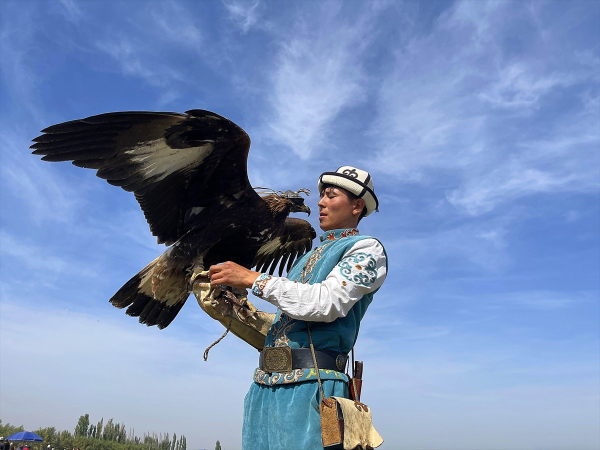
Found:
[[[172,244],[203,209],[240,199],[264,208],[247,175],[250,138],[201,109],[115,112],[53,125],[33,139],[44,161],[73,161],[132,191],[158,244]]]

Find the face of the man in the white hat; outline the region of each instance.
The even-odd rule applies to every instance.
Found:
[[[355,228],[358,215],[364,202],[362,199],[350,200],[344,190],[328,187],[321,193],[319,206],[319,226],[323,231]]]

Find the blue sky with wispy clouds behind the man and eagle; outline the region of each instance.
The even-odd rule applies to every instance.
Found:
[[[163,248],[130,193],[28,149],[200,108],[250,134],[253,185],[373,175],[361,231],[390,266],[356,355],[383,449],[600,447],[599,2],[0,8],[2,421],[239,448],[256,351],[229,336],[203,362],[222,328],[194,298],[163,331],[113,308]]]

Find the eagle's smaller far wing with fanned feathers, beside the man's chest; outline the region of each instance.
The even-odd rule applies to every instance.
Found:
[[[272,275],[279,263],[278,274],[281,277],[284,268],[289,272],[296,258],[310,250],[316,237],[317,233],[310,223],[288,217],[280,236],[259,248],[254,266],[257,271]]]

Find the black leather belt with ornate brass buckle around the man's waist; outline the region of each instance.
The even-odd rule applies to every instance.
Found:
[[[320,369],[341,372],[346,367],[348,355],[332,350],[314,350]],[[294,369],[314,367],[310,349],[290,347],[264,347],[259,356],[259,368],[265,372],[290,373]]]

